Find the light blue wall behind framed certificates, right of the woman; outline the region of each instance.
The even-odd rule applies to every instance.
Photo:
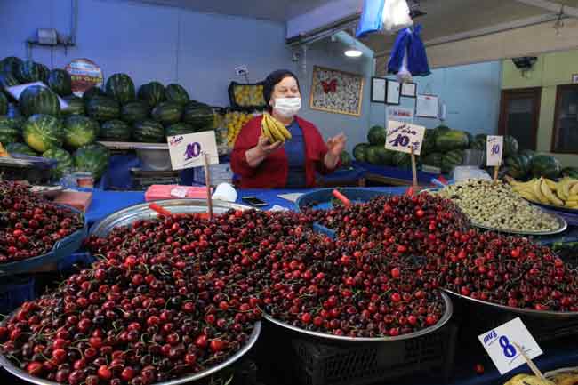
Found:
[[[393,78],[393,77],[392,77]],[[433,93],[446,103],[444,124],[473,134],[498,132],[502,66],[498,61],[439,68],[426,77],[415,77],[418,93]],[[401,98],[400,107],[414,108],[415,100]],[[371,122],[383,124],[386,108],[371,104]],[[436,127],[438,119],[414,119],[414,124]]]

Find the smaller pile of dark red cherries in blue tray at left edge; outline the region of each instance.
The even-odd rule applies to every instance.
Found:
[[[30,193],[24,184],[0,180],[0,263],[48,253],[83,225],[80,214]]]

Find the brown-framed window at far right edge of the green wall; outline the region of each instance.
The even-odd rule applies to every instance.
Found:
[[[551,151],[578,154],[578,84],[556,89]]]

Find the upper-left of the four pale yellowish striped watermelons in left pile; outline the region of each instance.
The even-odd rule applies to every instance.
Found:
[[[22,128],[22,137],[28,146],[43,153],[50,148],[62,147],[64,128],[54,116],[30,116]]]

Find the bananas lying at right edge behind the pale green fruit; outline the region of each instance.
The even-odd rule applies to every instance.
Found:
[[[527,200],[544,205],[557,205],[578,209],[578,180],[563,178],[559,181],[534,178],[520,182],[507,179],[512,189]]]

